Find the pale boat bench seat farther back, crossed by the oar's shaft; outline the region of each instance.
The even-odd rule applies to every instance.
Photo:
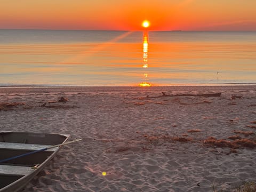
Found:
[[[18,149],[18,150],[39,150],[42,148],[51,147],[50,145],[38,145],[29,143],[13,143],[0,142],[0,149]],[[47,149],[45,151],[55,151],[56,148]]]

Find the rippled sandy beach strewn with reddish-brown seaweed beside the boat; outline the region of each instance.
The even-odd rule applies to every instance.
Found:
[[[1,87],[0,122],[83,138],[23,192],[235,191],[255,181],[255,85]]]

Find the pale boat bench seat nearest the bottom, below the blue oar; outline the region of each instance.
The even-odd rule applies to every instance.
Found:
[[[0,175],[26,175],[34,169],[28,166],[0,165]]]

